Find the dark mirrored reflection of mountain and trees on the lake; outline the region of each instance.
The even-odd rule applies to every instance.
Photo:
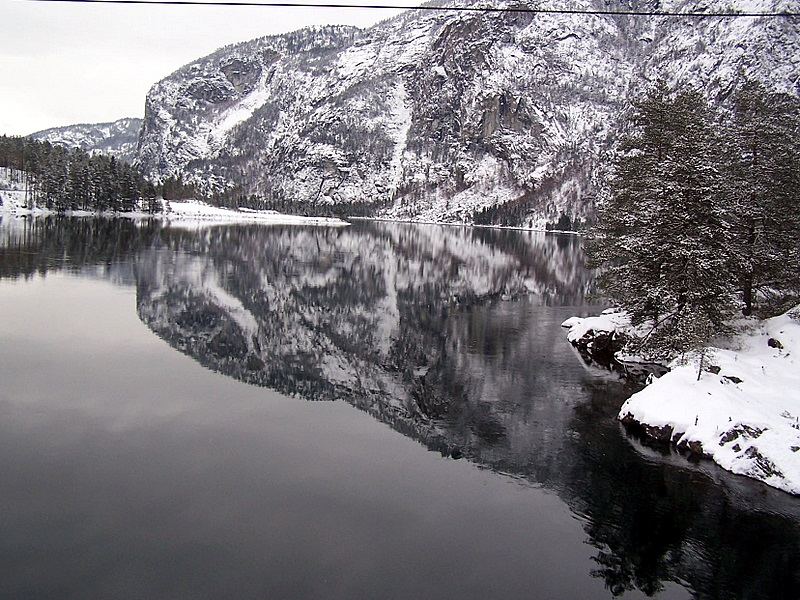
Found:
[[[682,458],[650,457],[616,412],[631,393],[584,365],[580,240],[356,223],[347,229],[40,219],[0,227],[0,277],[67,269],[135,285],[140,319],[203,366],[344,400],[431,450],[542,486],[619,594],[800,589],[800,503]]]

